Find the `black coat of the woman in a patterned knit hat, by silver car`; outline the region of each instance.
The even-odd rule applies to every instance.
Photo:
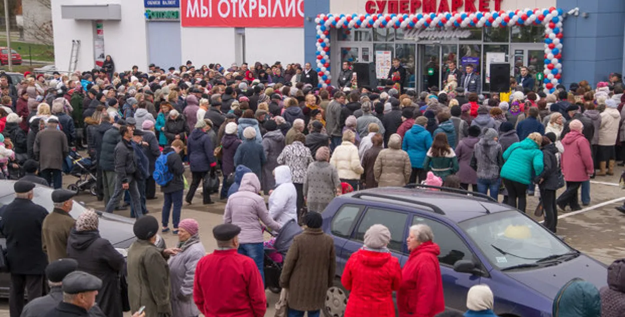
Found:
[[[126,261],[109,240],[96,231],[71,231],[68,238],[68,258],[78,261],[78,270],[102,280],[96,302],[107,317],[121,317],[119,274]]]

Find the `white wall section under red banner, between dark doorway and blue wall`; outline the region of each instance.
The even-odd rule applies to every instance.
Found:
[[[304,64],[304,28],[283,27],[279,29],[246,28],[246,61],[283,65],[298,62]]]

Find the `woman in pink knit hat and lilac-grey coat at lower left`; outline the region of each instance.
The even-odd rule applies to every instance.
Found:
[[[193,279],[197,261],[206,254],[199,239],[199,224],[194,219],[183,219],[178,224],[179,252],[169,258],[172,316],[195,317],[199,310],[193,302]]]

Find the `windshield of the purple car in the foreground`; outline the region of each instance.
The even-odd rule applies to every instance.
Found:
[[[516,210],[489,213],[459,226],[499,270],[537,266],[577,253]]]

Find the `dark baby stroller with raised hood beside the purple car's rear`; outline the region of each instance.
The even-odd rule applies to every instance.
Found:
[[[297,221],[294,219],[285,223],[277,235],[269,232],[275,238],[265,242],[265,288],[274,294],[279,294],[282,290],[280,288],[280,275],[282,274],[284,257],[293,243],[293,238],[300,233],[302,233],[302,228],[297,225]]]

